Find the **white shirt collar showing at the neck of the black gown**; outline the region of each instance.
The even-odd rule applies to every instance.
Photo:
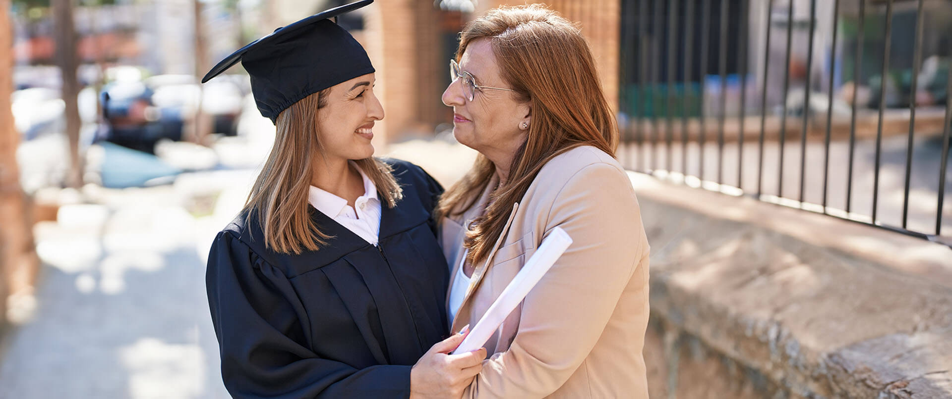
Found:
[[[367,242],[377,245],[380,236],[380,199],[377,198],[377,186],[373,184],[364,171],[354,161],[348,163],[360,172],[364,180],[364,195],[354,201],[354,206],[347,205],[347,199],[342,199],[320,188],[310,186],[307,191],[307,202],[328,218],[340,223],[352,233],[364,238]],[[354,209],[356,208],[356,209]]]

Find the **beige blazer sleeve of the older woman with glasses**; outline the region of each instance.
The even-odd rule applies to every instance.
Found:
[[[625,172],[607,163],[585,166],[538,218],[545,218],[545,234],[560,226],[572,244],[526,296],[508,351],[484,361],[464,397],[541,398],[558,390],[595,347],[629,284],[640,287],[634,296],[644,303],[637,307],[639,321],[622,328],[644,336],[647,271],[640,269],[647,262],[640,260],[648,248]]]

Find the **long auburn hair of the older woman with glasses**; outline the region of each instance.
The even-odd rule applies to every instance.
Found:
[[[464,28],[457,61],[478,39],[489,40],[503,79],[515,90],[511,95],[531,102],[532,123],[509,165],[508,179],[490,194],[484,214],[466,232],[466,260],[474,263],[488,257],[513,203],[522,200],[546,162],[580,145],[614,157],[619,140],[591,50],[580,29],[564,17],[538,4],[489,10]],[[492,161],[480,154],[443,195],[437,214],[466,212],[495,172]]]

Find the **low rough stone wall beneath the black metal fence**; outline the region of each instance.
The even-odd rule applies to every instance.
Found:
[[[952,249],[632,182],[651,243],[651,397],[952,397]]]

